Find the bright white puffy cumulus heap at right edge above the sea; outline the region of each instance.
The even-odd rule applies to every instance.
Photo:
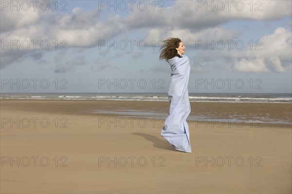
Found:
[[[246,50],[234,57],[233,69],[243,72],[285,72],[292,65],[291,29],[277,28],[271,35],[260,38],[262,50]],[[239,51],[237,51],[239,53]],[[231,55],[232,57],[232,55]]]

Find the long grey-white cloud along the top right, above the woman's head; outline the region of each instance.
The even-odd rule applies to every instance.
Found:
[[[178,29],[201,30],[219,26],[230,20],[279,19],[291,16],[292,13],[292,2],[286,0],[233,0],[229,1],[229,3],[226,1],[220,2],[223,2],[223,4],[221,3],[224,6],[223,9],[220,3],[215,0],[209,2],[203,0],[176,0],[171,6],[165,7],[164,11],[153,11],[152,9],[139,11],[134,9],[122,21],[127,24],[127,29],[129,30],[164,28],[167,26],[175,26]],[[149,6],[151,7],[152,5]]]

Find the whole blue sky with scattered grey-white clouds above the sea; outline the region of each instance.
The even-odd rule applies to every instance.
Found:
[[[179,37],[190,93],[292,93],[291,0],[0,0],[1,92],[167,93]]]

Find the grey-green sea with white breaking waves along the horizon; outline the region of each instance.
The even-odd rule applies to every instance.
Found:
[[[0,93],[0,99],[168,101],[167,93]],[[292,103],[291,93],[189,93],[190,102]]]

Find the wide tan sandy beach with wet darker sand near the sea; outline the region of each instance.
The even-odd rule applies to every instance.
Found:
[[[164,141],[163,119],[112,113],[168,108],[168,102],[1,99],[0,193],[292,193],[291,124],[256,120],[291,121],[292,104],[191,103],[191,115],[209,114],[215,122],[188,121],[190,154]],[[244,120],[219,120],[230,116]]]

